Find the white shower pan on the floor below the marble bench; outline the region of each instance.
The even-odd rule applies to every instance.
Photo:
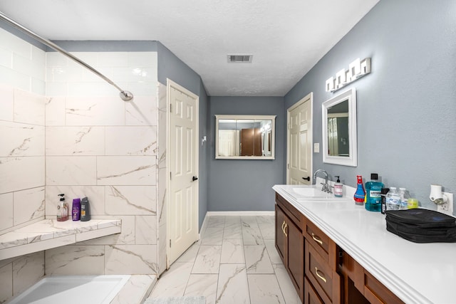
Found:
[[[48,276],[9,304],[109,304],[130,276]]]

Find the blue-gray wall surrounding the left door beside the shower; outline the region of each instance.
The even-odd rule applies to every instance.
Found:
[[[160,42],[157,42],[157,51],[158,81],[166,85],[166,79],[170,78],[170,80],[199,96],[199,142],[201,142],[201,138],[208,132],[206,120],[208,99],[204,84],[192,68],[177,58]],[[201,228],[207,212],[208,150],[207,142],[204,145],[199,145],[199,228]]]

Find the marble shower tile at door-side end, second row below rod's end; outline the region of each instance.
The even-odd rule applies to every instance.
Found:
[[[157,127],[106,127],[106,155],[157,154]]]

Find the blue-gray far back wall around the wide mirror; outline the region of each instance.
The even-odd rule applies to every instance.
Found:
[[[286,115],[281,97],[209,97],[210,151],[207,211],[272,211],[274,184],[283,184]],[[215,159],[215,116],[277,115],[276,159]]]

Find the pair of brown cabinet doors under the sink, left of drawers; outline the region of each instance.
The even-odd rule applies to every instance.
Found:
[[[304,299],[302,214],[276,194],[276,249],[301,300]]]

